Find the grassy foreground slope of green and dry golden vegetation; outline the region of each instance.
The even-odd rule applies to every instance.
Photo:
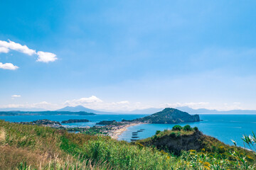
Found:
[[[175,156],[140,142],[118,142],[110,137],[0,120],[0,169],[255,168],[253,154],[250,157],[245,150],[233,147],[224,152],[229,157],[222,157],[218,152],[212,155],[203,149]]]

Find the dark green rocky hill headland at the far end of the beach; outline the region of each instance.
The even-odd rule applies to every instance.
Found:
[[[163,111],[148,115],[144,118],[139,118],[137,120],[144,123],[172,124],[199,122],[200,118],[199,115],[190,115],[175,108],[165,108]]]

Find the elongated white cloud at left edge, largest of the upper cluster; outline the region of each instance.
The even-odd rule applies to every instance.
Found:
[[[16,50],[18,52],[22,52],[26,55],[35,55],[36,50],[29,49],[26,45],[21,45],[19,43],[13,42],[9,40],[7,41],[2,41],[0,40],[0,47],[4,48],[5,53],[9,52],[9,50]],[[6,51],[7,49],[7,51]]]

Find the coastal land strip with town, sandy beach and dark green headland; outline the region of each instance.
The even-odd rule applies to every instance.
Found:
[[[61,111],[62,112],[62,111]],[[66,113],[66,112],[64,112]],[[92,113],[93,114],[93,113]],[[159,123],[159,124],[174,124],[174,123],[190,123],[190,122],[199,122],[199,115],[190,115],[186,112],[179,111],[175,108],[165,108],[163,111],[147,115],[143,118],[137,118],[134,120],[122,120],[117,122],[116,120],[102,120],[99,123],[96,123],[93,127],[80,127],[80,128],[70,128],[67,126],[62,126],[60,123],[51,121],[51,120],[36,120],[31,123],[23,124],[32,124],[32,125],[44,125],[50,126],[51,128],[65,129],[67,131],[76,131],[84,133],[87,135],[107,135],[113,139],[117,139],[119,135],[122,134],[127,128],[133,125],[139,125],[144,123]],[[63,120],[61,123],[82,123],[89,122],[87,119],[70,119]],[[142,132],[143,130],[138,130],[135,133]],[[137,135],[134,135],[137,136]],[[134,137],[135,138],[135,137]],[[133,139],[136,141],[137,139]]]

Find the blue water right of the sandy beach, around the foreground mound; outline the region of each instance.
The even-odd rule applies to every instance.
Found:
[[[239,146],[244,147],[241,137],[244,134],[252,134],[252,130],[256,132],[256,115],[200,115],[201,122],[198,123],[181,123],[179,125],[197,126],[204,134],[216,137],[218,140],[228,145],[233,145],[231,140],[235,140]],[[151,137],[156,133],[156,130],[165,130],[174,125],[165,124],[142,124],[129,127],[119,140],[127,140],[130,142],[132,132],[140,129],[145,129],[139,132],[139,139]]]

